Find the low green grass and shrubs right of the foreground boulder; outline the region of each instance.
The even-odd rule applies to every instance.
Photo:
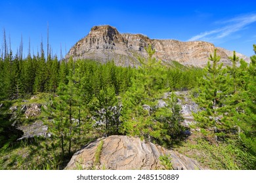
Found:
[[[255,157],[240,148],[240,144],[233,140],[211,144],[204,138],[198,138],[194,142],[182,144],[178,150],[209,169],[255,169]]]

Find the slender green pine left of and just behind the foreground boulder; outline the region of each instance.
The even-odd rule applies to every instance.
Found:
[[[74,141],[74,134],[79,125],[76,124],[75,107],[77,101],[75,100],[75,87],[73,80],[73,71],[70,71],[68,76],[68,84],[60,83],[56,96],[53,98],[53,103],[47,107],[47,113],[53,120],[49,121],[49,132],[53,134],[53,138],[60,141],[62,148],[62,156],[72,152],[72,142]],[[68,148],[65,148],[68,146]]]

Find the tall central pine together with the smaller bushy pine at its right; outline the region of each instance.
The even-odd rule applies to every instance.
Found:
[[[139,58],[141,67],[122,97],[122,133],[169,145],[182,133],[181,108],[174,94],[167,101],[167,107],[158,107],[158,99],[167,90],[167,69],[153,58],[151,46],[146,52],[148,58]]]

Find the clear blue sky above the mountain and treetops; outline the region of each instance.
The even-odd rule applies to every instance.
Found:
[[[68,50],[94,25],[112,25],[120,33],[142,33],[151,39],[202,40],[253,55],[256,1],[0,1],[0,36],[11,37],[12,52],[23,37],[36,54],[41,39],[54,54]],[[2,44],[3,39],[0,39]],[[66,51],[65,51],[66,48]],[[1,46],[0,46],[1,49]]]

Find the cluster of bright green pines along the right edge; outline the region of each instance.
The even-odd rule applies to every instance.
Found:
[[[255,49],[255,46],[253,46]],[[240,151],[245,166],[238,167],[255,169],[256,160],[256,67],[255,57],[251,57],[249,67],[243,59],[236,57],[236,52],[230,57],[231,66],[221,69],[217,65],[220,58],[211,56],[213,65],[207,65],[206,75],[200,82],[200,90],[196,102],[202,111],[194,114],[195,119],[202,127],[214,127],[217,142],[236,142],[235,150]],[[237,66],[240,61],[240,66]],[[210,127],[210,128],[209,128]],[[206,130],[205,130],[206,132]],[[202,130],[203,133],[203,130]],[[207,136],[208,133],[203,133]],[[211,137],[212,138],[212,137]],[[228,165],[225,163],[224,165]],[[236,169],[235,165],[226,167]]]

